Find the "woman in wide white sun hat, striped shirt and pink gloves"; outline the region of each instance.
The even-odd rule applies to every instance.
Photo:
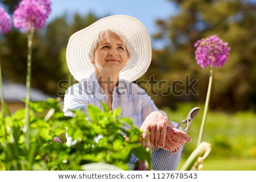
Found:
[[[64,96],[64,113],[88,104],[110,110],[121,107],[119,117],[130,117],[141,128],[144,147],[152,151],[153,170],[176,170],[185,142],[191,138],[175,129],[151,97],[133,81],[141,77],[151,63],[150,36],[144,25],[129,15],[112,15],[75,32],[67,45],[69,71],[79,81]],[[148,133],[149,132],[149,133]],[[131,157],[129,164],[137,162]]]

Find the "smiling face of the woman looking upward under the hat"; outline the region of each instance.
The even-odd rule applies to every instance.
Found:
[[[96,73],[100,75],[117,73],[126,66],[128,53],[119,36],[109,34],[109,41],[105,38],[94,52],[92,63]]]

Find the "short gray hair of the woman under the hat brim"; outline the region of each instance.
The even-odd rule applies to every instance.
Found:
[[[94,52],[97,49],[98,43],[102,42],[102,40],[104,40],[105,38],[109,41],[109,34],[115,34],[115,35],[119,36],[123,45],[126,47],[128,57],[131,57],[131,44],[127,40],[126,36],[123,35],[123,33],[121,31],[113,30],[113,29],[106,29],[106,30],[100,31],[98,33],[98,35],[96,35],[96,38],[94,38],[94,40],[90,44],[89,53],[88,53],[90,60],[93,59]]]

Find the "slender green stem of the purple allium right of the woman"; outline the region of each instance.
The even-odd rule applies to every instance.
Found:
[[[201,140],[203,138],[203,133],[204,133],[204,125],[205,125],[205,120],[207,118],[207,111],[208,111],[208,105],[209,105],[209,100],[210,100],[210,90],[212,88],[212,67],[210,67],[210,77],[209,77],[209,84],[208,84],[208,90],[207,90],[207,97],[205,99],[205,105],[204,105],[204,113],[203,113],[203,119],[201,122],[201,127],[200,127],[200,133],[199,133],[199,138],[197,141],[197,146],[201,143]]]

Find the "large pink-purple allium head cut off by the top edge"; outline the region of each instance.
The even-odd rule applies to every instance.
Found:
[[[14,27],[23,31],[29,31],[31,27],[40,30],[51,13],[51,3],[51,0],[22,0],[13,14]]]

